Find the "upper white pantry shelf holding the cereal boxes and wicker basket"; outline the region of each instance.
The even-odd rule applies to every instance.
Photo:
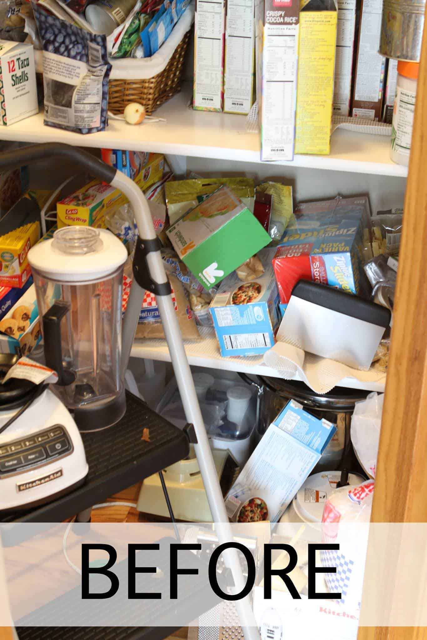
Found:
[[[193,111],[188,108],[191,88],[169,100],[155,115],[166,122],[139,127],[109,120],[106,131],[85,136],[45,127],[43,113],[0,127],[0,140],[63,142],[94,148],[150,151],[175,156],[259,163],[259,135],[245,131],[245,116]],[[388,136],[342,131],[332,135],[329,156],[295,156],[293,162],[270,163],[345,172],[406,177],[407,167],[392,163]]]

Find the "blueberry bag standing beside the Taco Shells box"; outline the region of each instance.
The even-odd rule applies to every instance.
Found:
[[[44,124],[79,133],[108,122],[106,36],[93,35],[33,3],[43,47]]]

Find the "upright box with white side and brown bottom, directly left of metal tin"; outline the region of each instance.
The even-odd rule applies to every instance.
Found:
[[[362,0],[351,116],[381,119],[385,57],[378,53],[382,0]]]

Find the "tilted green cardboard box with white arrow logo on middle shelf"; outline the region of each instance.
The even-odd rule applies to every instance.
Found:
[[[226,186],[182,216],[166,234],[205,289],[218,284],[271,241],[254,214]]]

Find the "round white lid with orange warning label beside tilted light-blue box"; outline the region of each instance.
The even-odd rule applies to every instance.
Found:
[[[337,488],[340,478],[339,471],[324,471],[307,478],[293,499],[293,507],[304,522],[321,522],[325,502]],[[362,476],[348,476],[348,482],[353,486],[363,481]]]

